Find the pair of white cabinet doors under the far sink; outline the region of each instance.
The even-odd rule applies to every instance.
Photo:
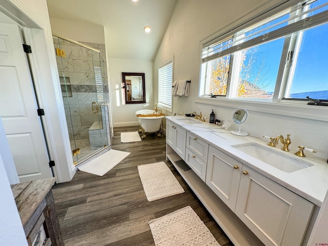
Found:
[[[186,130],[182,129],[169,119],[166,120],[166,142],[182,158],[182,160],[185,160]]]

